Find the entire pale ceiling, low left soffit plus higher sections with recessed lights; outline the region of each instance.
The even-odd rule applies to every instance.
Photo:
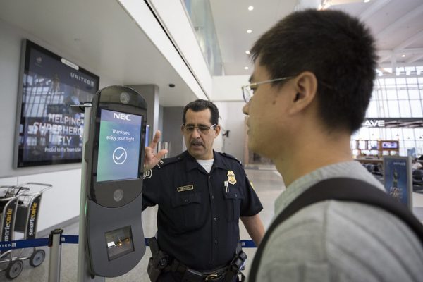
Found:
[[[245,51],[300,1],[309,0],[211,0],[225,74],[250,75],[252,65]],[[331,2],[329,8],[347,11],[369,25],[376,35],[381,67],[423,64],[422,0],[326,2]],[[248,11],[248,6],[254,9]],[[56,54],[67,54],[66,59],[84,68],[90,66],[87,69],[93,73],[125,85],[159,85],[162,106],[183,106],[195,99],[116,0],[0,0],[0,20],[12,34],[18,27],[29,39]],[[168,87],[169,83],[176,87]]]

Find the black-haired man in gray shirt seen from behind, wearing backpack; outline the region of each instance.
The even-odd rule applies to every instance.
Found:
[[[243,87],[248,147],[274,161],[283,176],[286,190],[276,199],[275,217],[289,214],[286,207],[315,184],[339,178],[373,186],[364,197],[370,190],[386,197],[350,150],[375,79],[376,50],[367,27],[341,11],[298,11],[265,32],[250,53],[252,84]],[[326,200],[274,226],[256,252],[250,281],[423,279],[417,233],[385,209]]]

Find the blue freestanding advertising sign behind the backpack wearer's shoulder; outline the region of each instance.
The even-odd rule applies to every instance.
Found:
[[[391,197],[412,209],[412,169],[410,157],[384,157],[384,187]]]

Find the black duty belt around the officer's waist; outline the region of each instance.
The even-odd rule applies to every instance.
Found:
[[[173,258],[172,263],[165,267],[164,271],[173,271],[183,274],[183,281],[223,281],[228,271],[228,266],[215,269],[214,271],[197,271],[185,266],[178,259]]]

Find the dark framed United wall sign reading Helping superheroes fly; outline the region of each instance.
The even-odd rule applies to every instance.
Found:
[[[98,89],[99,76],[23,40],[15,167],[80,162],[84,115],[70,105],[91,102]]]

